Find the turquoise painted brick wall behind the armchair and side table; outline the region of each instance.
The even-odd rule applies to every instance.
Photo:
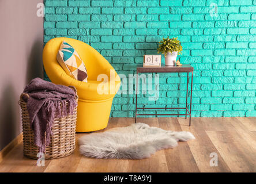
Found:
[[[256,116],[255,0],[46,0],[44,42],[71,37],[92,45],[118,74],[134,74],[161,38],[178,36],[194,67],[194,117]],[[217,16],[210,16],[211,3]],[[164,63],[164,57],[162,57]],[[160,98],[145,107],[184,106],[184,74],[160,74]],[[45,75],[47,79],[47,76]],[[112,117],[133,117],[135,95],[116,95]],[[148,111],[145,111],[145,113]],[[153,112],[150,112],[153,113]],[[163,113],[163,112],[158,112]]]

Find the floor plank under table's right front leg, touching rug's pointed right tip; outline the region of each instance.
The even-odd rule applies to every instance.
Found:
[[[189,131],[195,136],[195,140],[188,141],[195,162],[201,172],[231,172],[224,159],[219,156],[218,167],[210,166],[210,154],[215,152],[220,155],[217,148],[208,137],[204,129],[203,118],[193,118],[191,127],[187,125],[185,118],[178,118],[182,131]]]

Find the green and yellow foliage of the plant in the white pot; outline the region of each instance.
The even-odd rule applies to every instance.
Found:
[[[178,52],[178,55],[181,54],[182,51],[182,45],[180,41],[178,40],[178,37],[176,38],[169,38],[166,39],[163,38],[163,40],[159,41],[159,47],[157,48],[158,53],[163,53],[165,56],[168,52]]]

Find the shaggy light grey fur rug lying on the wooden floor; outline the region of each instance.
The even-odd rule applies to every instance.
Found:
[[[80,153],[91,158],[143,159],[157,150],[176,147],[178,141],[190,139],[195,139],[190,132],[165,131],[139,122],[83,136],[79,144]]]

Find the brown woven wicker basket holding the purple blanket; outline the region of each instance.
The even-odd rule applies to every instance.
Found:
[[[77,90],[74,87],[71,88],[77,94]],[[34,133],[29,122],[27,103],[22,99],[24,95],[27,95],[29,98],[28,94],[22,93],[19,101],[22,113],[23,152],[28,158],[38,159],[37,153],[39,148],[34,144]],[[74,152],[76,147],[76,121],[77,108],[74,110],[73,115],[54,119],[52,136],[50,137],[51,143],[46,147],[44,159],[62,158]]]

